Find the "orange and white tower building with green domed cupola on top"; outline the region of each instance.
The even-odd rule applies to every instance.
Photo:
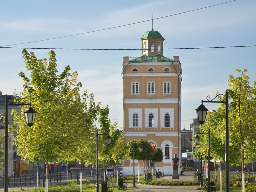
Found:
[[[164,37],[158,31],[147,31],[141,41],[142,56],[123,62],[125,143],[141,138],[155,143],[164,158],[154,167],[161,171],[163,165],[164,174],[172,174],[172,157],[180,158],[180,60],[163,56]],[[125,160],[123,172],[133,173],[132,160]]]

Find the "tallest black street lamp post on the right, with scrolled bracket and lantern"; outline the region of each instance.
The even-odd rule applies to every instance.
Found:
[[[216,97],[222,95],[223,98],[220,98],[219,101],[213,101]],[[226,95],[223,94],[218,94],[216,97],[214,97],[212,100],[208,100],[210,96],[208,95],[206,97],[207,101],[202,100],[202,105],[200,105],[197,109],[197,119],[198,122],[202,125],[205,122],[206,114],[208,109],[203,105],[203,102],[205,103],[225,103],[226,105],[226,117],[225,117],[225,122],[226,122],[226,127],[225,127],[225,152],[226,152],[226,158],[225,158],[225,165],[226,165],[226,192],[229,192],[230,186],[229,186],[229,130],[228,130],[228,90],[226,90]],[[209,130],[210,131],[210,130]],[[210,132],[209,132],[210,133]],[[209,134],[210,137],[210,134]],[[210,142],[209,142],[210,143]]]

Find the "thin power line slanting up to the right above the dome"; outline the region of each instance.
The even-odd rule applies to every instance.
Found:
[[[236,0],[232,0],[232,1],[236,1]],[[211,5],[211,6],[207,6],[207,7],[202,7],[202,8],[199,8],[199,9],[194,9],[194,10],[190,10],[190,11],[186,11],[186,12],[176,13],[176,14],[173,14],[173,15],[167,15],[167,16],[164,16],[164,17],[158,17],[158,18],[156,18],[156,19],[150,19],[150,20],[139,21],[139,22],[130,23],[130,24],[126,24],[126,25],[120,25],[120,26],[116,26],[116,27],[110,27],[110,28],[99,29],[99,30],[89,31],[89,32],[84,32],[84,33],[78,33],[78,34],[74,34],[74,35],[67,35],[67,36],[55,37],[55,38],[50,38],[50,39],[43,39],[43,40],[38,40],[38,41],[30,41],[30,42],[26,42],[26,43],[18,43],[18,44],[3,45],[3,46],[0,46],[0,47],[6,47],[6,46],[12,46],[12,45],[20,45],[20,44],[27,44],[27,43],[35,43],[35,42],[40,42],[40,41],[47,41],[47,40],[52,40],[52,39],[60,39],[60,38],[64,38],[64,37],[77,36],[77,35],[83,35],[83,34],[87,34],[87,33],[93,33],[93,32],[98,32],[98,31],[113,29],[113,28],[119,28],[119,27],[124,27],[124,26],[128,26],[128,25],[134,25],[134,24],[138,24],[138,23],[143,23],[143,22],[147,22],[147,21],[153,21],[153,20],[157,20],[157,19],[163,19],[163,18],[165,18],[165,17],[171,17],[171,16],[174,16],[174,15],[179,15],[179,14],[188,13],[188,12],[192,12],[192,11],[197,11],[197,10],[200,10],[200,9],[205,9],[205,8],[209,8],[209,7],[213,7],[213,6],[217,6],[217,5],[221,5],[221,4],[230,3],[230,2],[232,2],[232,1],[224,2],[224,3],[220,3],[220,4],[215,4],[215,5]],[[32,48],[31,48],[31,49],[32,49]]]

